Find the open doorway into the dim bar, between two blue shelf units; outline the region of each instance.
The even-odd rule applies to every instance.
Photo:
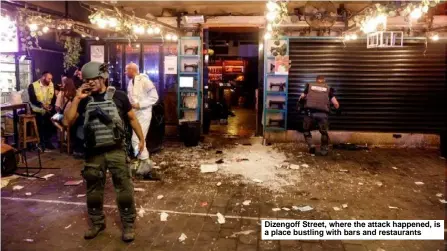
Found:
[[[209,49],[204,60],[204,120],[211,120],[209,133],[254,136],[259,29],[219,27],[204,33]]]

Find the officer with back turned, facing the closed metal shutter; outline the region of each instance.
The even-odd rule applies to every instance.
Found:
[[[301,94],[299,102],[304,101],[304,109],[306,115],[304,116],[303,129],[304,138],[309,146],[309,152],[315,154],[315,145],[312,143],[312,124],[317,123],[318,130],[321,133],[321,155],[328,154],[328,114],[329,105],[332,103],[336,109],[340,107],[337,99],[334,96],[334,90],[329,88],[323,76],[317,77],[316,83],[309,83]]]

